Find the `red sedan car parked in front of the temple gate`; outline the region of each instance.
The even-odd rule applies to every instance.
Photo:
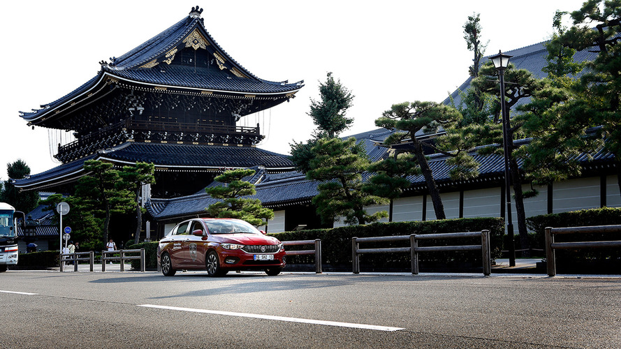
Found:
[[[177,224],[160,240],[157,262],[166,276],[178,269],[207,269],[209,276],[230,270],[265,270],[278,275],[285,265],[282,243],[233,218],[196,218]]]

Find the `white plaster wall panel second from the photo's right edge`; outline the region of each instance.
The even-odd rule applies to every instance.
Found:
[[[599,177],[569,179],[553,184],[553,213],[600,206]]]

